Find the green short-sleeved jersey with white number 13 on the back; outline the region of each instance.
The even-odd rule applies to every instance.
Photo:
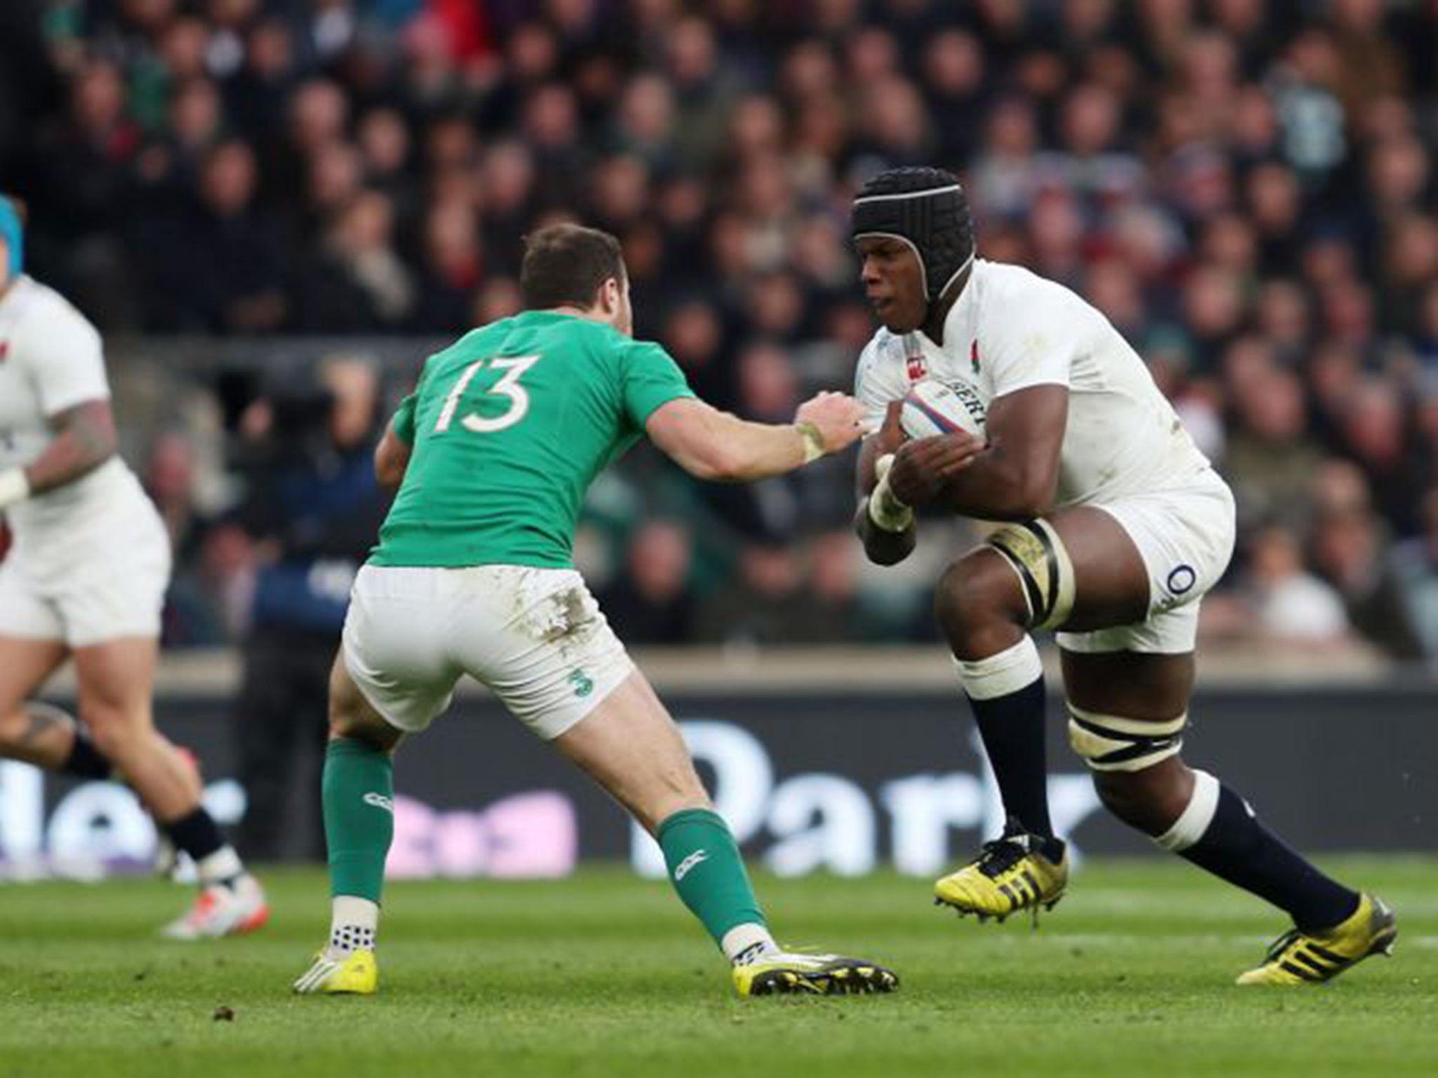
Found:
[[[370,562],[569,568],[590,483],[677,397],[663,348],[598,322],[528,310],[466,333],[394,415],[414,451]]]

